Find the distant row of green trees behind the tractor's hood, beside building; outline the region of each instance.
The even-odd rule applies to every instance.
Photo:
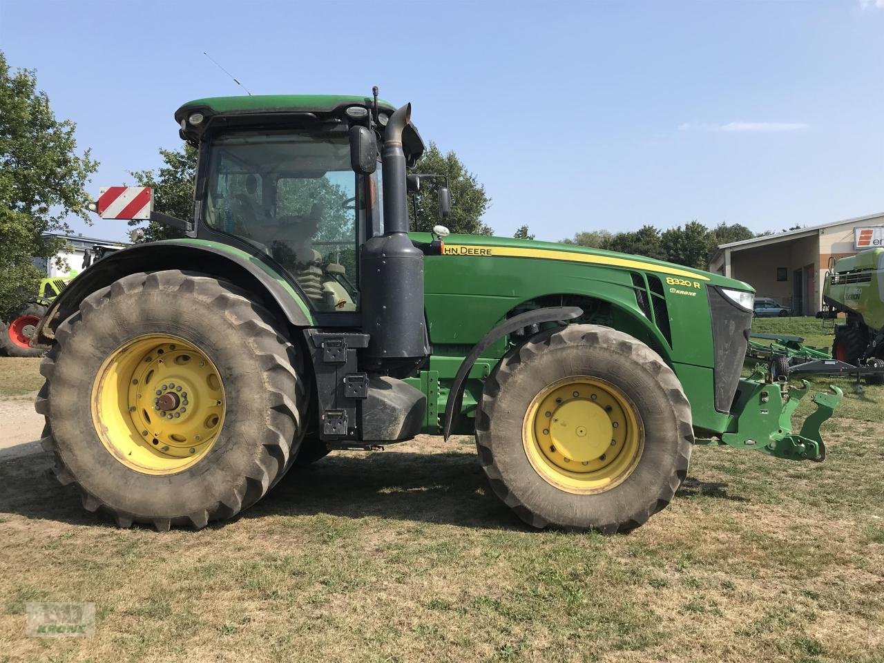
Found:
[[[652,225],[643,225],[635,232],[616,234],[606,230],[577,232],[573,239],[561,240],[561,243],[646,255],[705,270],[715,248],[720,244],[751,240],[753,237],[755,234],[745,225],[722,223],[710,230],[695,219],[664,232],[659,232]]]

